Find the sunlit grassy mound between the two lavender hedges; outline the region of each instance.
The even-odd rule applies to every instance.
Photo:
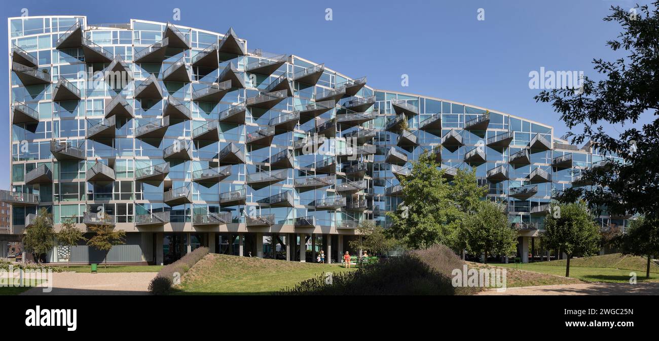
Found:
[[[210,254],[183,275],[172,294],[272,294],[325,272],[351,269],[334,264],[313,264],[255,257]]]

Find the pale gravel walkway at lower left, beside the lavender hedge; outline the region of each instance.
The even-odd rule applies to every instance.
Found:
[[[21,295],[148,295],[156,272],[55,272],[53,290],[32,288]]]

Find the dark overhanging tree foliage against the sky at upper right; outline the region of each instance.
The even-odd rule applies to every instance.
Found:
[[[550,103],[569,129],[583,127],[582,133],[569,133],[572,142],[590,140],[600,154],[616,154],[625,162],[583,171],[591,187],[572,187],[563,192],[565,202],[583,197],[590,208],[604,208],[614,214],[641,214],[659,218],[659,1],[648,6],[611,7],[606,22],[617,22],[621,33],[606,44],[620,55],[615,61],[593,59],[598,80],[584,77],[579,91],[543,91],[536,101]],[[637,129],[641,116],[653,121]],[[609,135],[602,121],[621,129]]]

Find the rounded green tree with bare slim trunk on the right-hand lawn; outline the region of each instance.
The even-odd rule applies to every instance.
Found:
[[[600,249],[600,227],[583,201],[552,204],[544,220],[541,236],[546,245],[567,254],[565,277],[570,276],[570,259],[575,253],[584,257],[595,255]]]

